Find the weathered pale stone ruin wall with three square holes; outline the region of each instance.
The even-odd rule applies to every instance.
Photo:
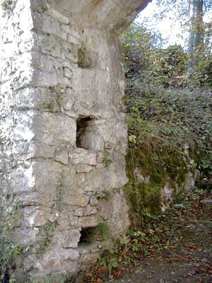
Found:
[[[12,240],[30,247],[20,277],[77,272],[111,246],[81,246],[83,229],[104,222],[117,238],[129,226],[124,71],[114,32],[145,1],[6,1],[1,222],[9,219]]]

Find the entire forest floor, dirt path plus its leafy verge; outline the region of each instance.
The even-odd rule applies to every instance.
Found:
[[[133,238],[127,248],[113,253],[117,264],[112,272],[108,272],[108,264],[99,263],[86,272],[82,282],[212,282],[212,193],[194,194],[173,207],[163,218],[153,222],[151,231],[139,236],[148,238],[141,250],[134,252],[129,248],[138,242]],[[155,236],[158,240],[153,243]]]

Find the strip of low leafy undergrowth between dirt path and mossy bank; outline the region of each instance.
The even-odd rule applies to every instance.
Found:
[[[201,203],[205,198],[211,199],[212,195],[195,190],[187,200],[177,197],[163,214],[146,214],[143,227],[129,229],[126,238],[117,241],[114,248],[105,250],[98,264],[82,272],[76,282],[102,283],[108,279],[118,279],[147,260],[151,262],[167,258],[167,253],[170,253],[169,260],[172,260],[172,239],[177,231],[184,229],[189,222],[201,224],[210,219],[212,208]],[[174,254],[174,261],[176,257]]]

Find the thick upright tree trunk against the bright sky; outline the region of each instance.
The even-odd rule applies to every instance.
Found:
[[[204,49],[203,0],[190,0],[189,6],[188,72],[192,74],[198,62],[198,57]]]

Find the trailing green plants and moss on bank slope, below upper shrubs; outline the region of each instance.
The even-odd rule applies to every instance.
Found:
[[[129,127],[125,191],[133,222],[136,218],[136,224],[142,224],[143,214],[160,211],[160,188],[165,183],[179,190],[194,168],[211,176],[212,98],[208,93],[152,88],[143,96],[126,95],[124,101]],[[188,166],[185,144],[194,167]],[[148,182],[137,182],[138,171]]]

